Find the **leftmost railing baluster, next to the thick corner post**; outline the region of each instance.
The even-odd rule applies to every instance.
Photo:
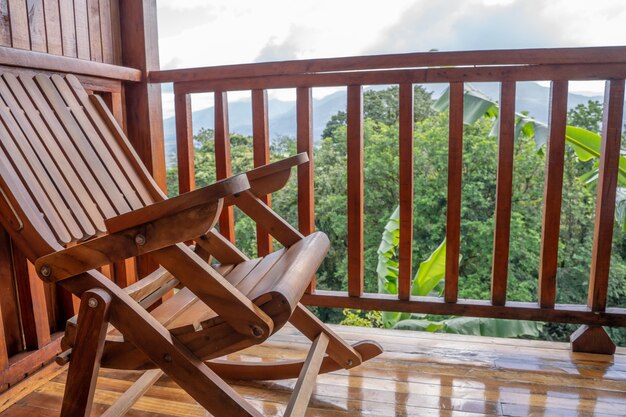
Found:
[[[182,194],[196,188],[190,95],[176,94],[174,96],[174,110],[176,112],[178,192]]]

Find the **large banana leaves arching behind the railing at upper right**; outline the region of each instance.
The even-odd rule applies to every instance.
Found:
[[[496,122],[490,135],[497,136],[500,111],[498,102],[469,83],[465,84],[463,97],[463,123],[470,125],[481,118],[495,119]],[[450,90],[446,89],[433,104],[433,108],[437,111],[444,111],[449,107],[449,103]],[[548,126],[526,113],[516,112],[515,116],[515,139],[521,134],[534,138],[537,150],[541,151],[548,142]],[[600,135],[589,130],[570,125],[565,127],[565,143],[572,147],[576,157],[582,162],[595,161],[593,168],[581,176],[581,179],[588,185],[598,179],[601,139]],[[619,158],[615,220],[626,231],[626,157],[623,153],[625,151],[622,151]]]

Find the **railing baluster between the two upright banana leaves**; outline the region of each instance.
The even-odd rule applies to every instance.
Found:
[[[400,84],[399,97],[400,242],[398,248],[398,297],[411,296],[413,270],[413,84]]]

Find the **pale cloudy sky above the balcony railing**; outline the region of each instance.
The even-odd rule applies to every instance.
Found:
[[[163,69],[626,45],[626,0],[157,0],[157,8]],[[601,84],[571,89],[597,93]]]

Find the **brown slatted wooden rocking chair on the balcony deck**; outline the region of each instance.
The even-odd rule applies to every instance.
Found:
[[[299,303],[328,239],[302,236],[259,199],[306,155],[168,199],[103,101],[71,75],[2,74],[0,121],[2,225],[44,281],[81,298],[62,342],[61,360],[70,360],[63,417],[89,415],[100,366],[150,370],[107,416],[126,412],[161,372],[215,416],[261,416],[222,378],[298,377],[285,415],[303,415],[318,372],[381,353],[374,342],[346,344]],[[229,205],[284,248],[246,257],[213,229]],[[183,243],[191,240],[195,249]],[[125,289],[97,270],[146,254],[159,269]],[[306,359],[219,359],[287,321],[314,342]]]

